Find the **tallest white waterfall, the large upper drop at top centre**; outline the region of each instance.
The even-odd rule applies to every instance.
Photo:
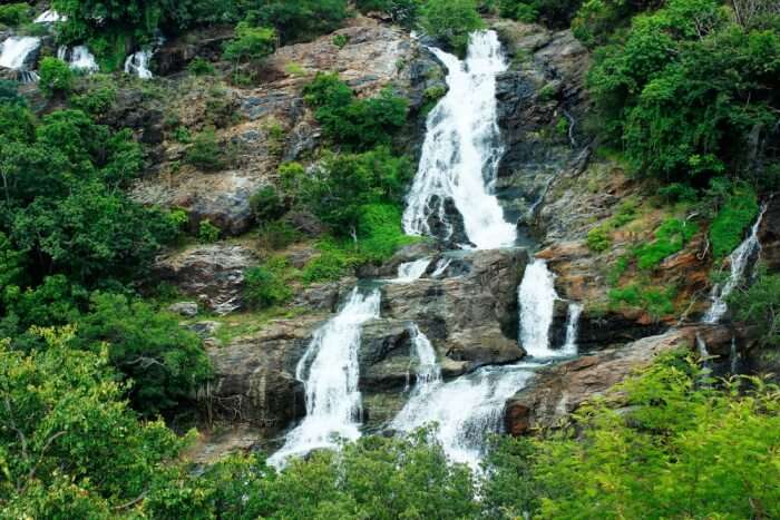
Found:
[[[504,219],[490,188],[504,153],[496,122],[496,75],[508,67],[498,36],[494,31],[471,35],[465,62],[440,49],[430,50],[449,71],[449,91],[428,116],[403,228],[409,235],[431,235],[429,219],[433,218],[447,229],[445,238],[450,238],[454,225],[445,202],[451,199],[477,247],[511,245],[516,227]]]

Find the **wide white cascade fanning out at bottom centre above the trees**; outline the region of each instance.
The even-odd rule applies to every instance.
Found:
[[[450,461],[478,470],[487,435],[501,430],[506,402],[532,376],[530,366],[488,366],[423,390],[418,385],[390,428],[412,432],[436,423],[437,440]]]

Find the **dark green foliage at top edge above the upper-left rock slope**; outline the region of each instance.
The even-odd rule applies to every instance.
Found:
[[[348,16],[347,0],[267,0],[248,19],[255,26],[275,28],[282,42],[289,43],[338,29]]]

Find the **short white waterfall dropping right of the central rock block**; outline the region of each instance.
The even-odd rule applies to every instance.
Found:
[[[555,292],[555,276],[545,261],[535,259],[526,267],[518,288],[520,344],[533,357],[562,355],[562,351],[549,347],[556,300],[559,298]]]

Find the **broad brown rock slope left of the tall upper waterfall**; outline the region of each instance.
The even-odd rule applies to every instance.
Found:
[[[182,39],[168,43],[157,57],[158,70],[179,70],[194,53],[201,53],[198,49],[218,47],[225,38],[220,29],[206,32],[198,42]],[[348,43],[337,47],[334,35],[345,36]],[[306,161],[320,145],[319,125],[302,95],[316,72],[338,72],[359,96],[374,95],[392,85],[410,100],[412,112],[425,102],[427,88],[442,84],[438,61],[400,29],[358,17],[351,27],[334,35],[277,49],[262,70],[255,71],[253,86],[214,85],[199,78],[192,80],[194,85],[170,87],[163,107],[165,114],[174,115],[169,117],[170,136],[181,127],[192,134],[215,127],[226,165],[218,171],[202,171],[185,160],[187,146],[169,138],[154,160],[155,175],[138,181],[133,197],[143,204],[186,209],[194,230],[208,219],[227,234],[240,235],[253,224],[250,198],[276,180],[280,163]],[[162,133],[147,127],[156,129],[162,116],[153,116],[148,115],[154,124],[144,122],[143,135],[156,140]],[[412,151],[422,130],[415,121],[403,131]]]

